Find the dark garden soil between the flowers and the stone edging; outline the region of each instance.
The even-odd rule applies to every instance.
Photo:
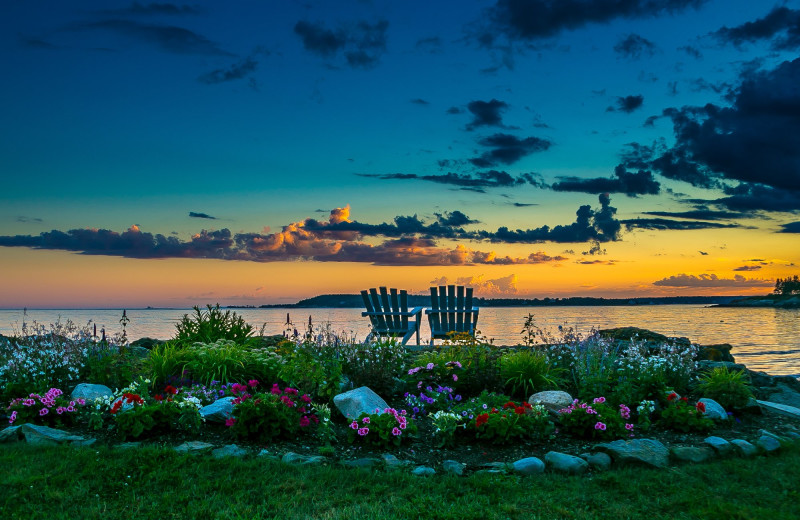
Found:
[[[401,408],[400,403],[389,403]],[[338,412],[333,409],[334,414]],[[392,453],[400,460],[413,463],[416,466],[424,465],[433,468],[441,466],[446,460],[456,460],[467,465],[467,471],[475,471],[488,467],[492,462],[510,463],[525,457],[544,458],[549,451],[558,451],[571,455],[580,455],[594,451],[593,447],[597,441],[575,439],[565,434],[556,434],[549,439],[538,441],[519,441],[510,445],[498,445],[490,442],[479,442],[475,440],[461,439],[452,448],[440,449],[433,442],[432,427],[430,421],[416,421],[418,432],[417,436],[399,448],[378,448],[373,446],[351,445],[347,442],[348,425],[344,421],[335,420],[334,429],[339,442],[333,445],[334,452],[330,454],[332,462],[342,462],[360,458],[380,459],[385,453]],[[761,414],[742,413],[734,416],[727,424],[719,424],[709,434],[681,433],[660,428],[651,428],[647,432],[638,432],[636,438],[655,439],[667,447],[676,446],[703,446],[703,440],[714,435],[726,440],[744,439],[755,443],[761,436],[760,430],[764,429],[778,435],[785,435],[790,432],[800,433],[800,419],[790,418],[785,415],[762,408]],[[114,446],[125,442],[120,439],[113,430],[90,431],[85,428],[71,428],[71,431],[86,437],[96,438],[99,444]],[[203,441],[217,447],[226,444],[236,444],[245,448],[252,454],[259,453],[262,449],[267,450],[270,455],[277,457],[287,452],[295,452],[302,455],[320,455],[320,448],[324,443],[316,438],[309,436],[298,441],[277,441],[270,444],[249,442],[242,439],[235,439],[228,429],[221,424],[206,423],[201,431],[196,434],[182,432],[170,432],[158,437],[151,437],[141,440],[142,446],[174,447],[186,441]],[[322,450],[325,454],[325,450]]]

